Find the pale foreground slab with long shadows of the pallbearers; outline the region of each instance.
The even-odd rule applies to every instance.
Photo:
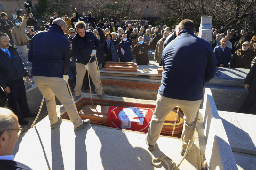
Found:
[[[143,133],[99,126],[74,132],[68,121],[50,129],[45,118],[20,136],[14,160],[36,170],[167,169],[165,165],[154,167],[151,160],[168,155],[178,163],[182,159],[180,148],[178,138],[160,136],[156,149],[149,152]],[[196,147],[179,169],[198,169]]]

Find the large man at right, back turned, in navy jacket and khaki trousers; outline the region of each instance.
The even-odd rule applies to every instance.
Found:
[[[146,138],[149,150],[155,149],[165,118],[177,105],[184,112],[185,122],[181,136],[182,156],[193,135],[204,84],[216,72],[216,59],[211,44],[195,36],[194,30],[193,21],[181,21],[176,27],[177,37],[164,48],[162,81]],[[188,149],[189,154],[193,145]]]

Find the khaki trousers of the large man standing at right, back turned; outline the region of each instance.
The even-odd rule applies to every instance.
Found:
[[[150,145],[155,145],[157,139],[160,136],[161,130],[164,125],[164,121],[167,115],[172,109],[180,105],[180,108],[184,112],[184,123],[183,131],[181,135],[182,149],[185,151],[192,136],[193,128],[196,123],[196,115],[199,111],[199,107],[202,100],[187,101],[178,100],[162,96],[160,93],[157,94],[156,109],[151,119],[151,123],[148,128],[147,142]],[[188,148],[190,149],[190,148]]]

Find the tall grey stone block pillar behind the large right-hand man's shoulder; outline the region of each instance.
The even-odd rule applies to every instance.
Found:
[[[201,17],[198,37],[212,41],[212,17]]]

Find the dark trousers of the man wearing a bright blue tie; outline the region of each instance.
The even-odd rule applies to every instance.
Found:
[[[14,114],[18,116],[19,119],[22,119],[23,115],[30,113],[23,78],[9,81],[7,82],[7,85],[11,91],[11,93],[7,93],[9,107],[12,109]],[[18,109],[17,102],[20,105],[21,113]]]

